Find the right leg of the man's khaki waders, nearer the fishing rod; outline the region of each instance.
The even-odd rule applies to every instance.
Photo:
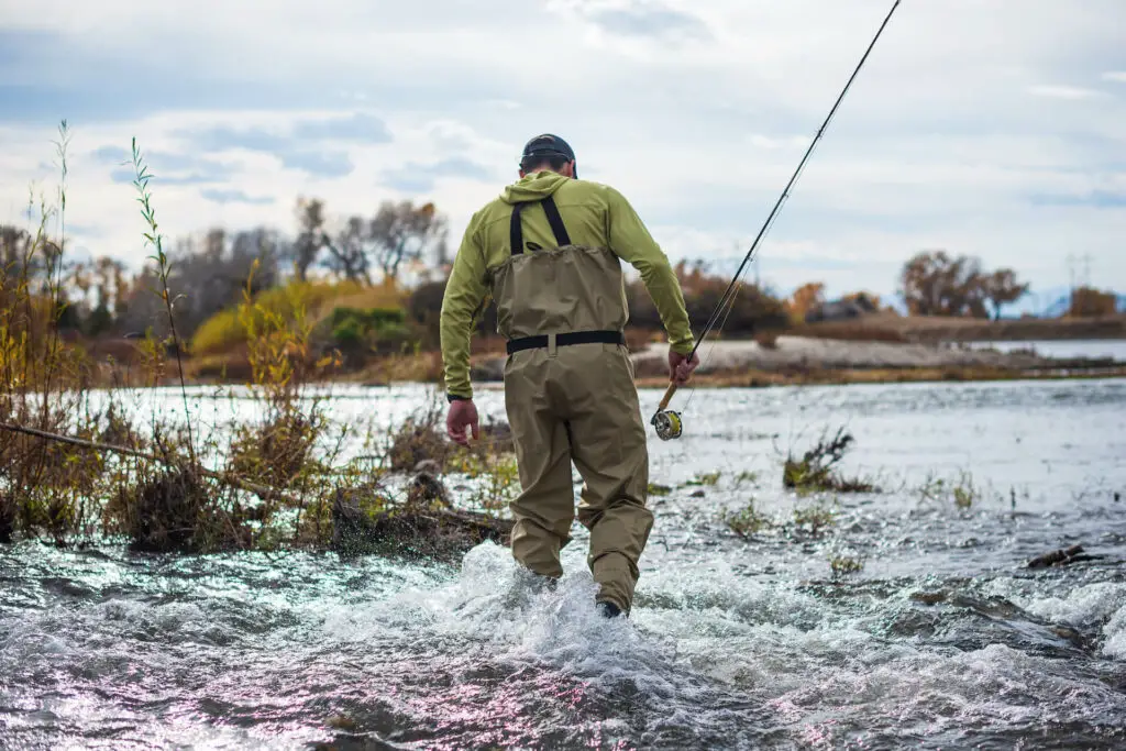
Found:
[[[572,456],[584,480],[579,521],[590,529],[588,563],[599,600],[628,613],[637,561],[653,527],[645,506],[649,449],[628,355],[607,345],[598,359],[573,368]],[[572,394],[569,394],[572,395]]]

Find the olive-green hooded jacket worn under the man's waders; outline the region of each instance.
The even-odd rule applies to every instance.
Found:
[[[545,170],[507,186],[473,215],[465,229],[441,303],[441,358],[446,392],[453,396],[473,396],[470,336],[491,293],[491,271],[511,252],[512,204],[546,195],[554,197],[571,242],[606,248],[637,269],[669,333],[669,346],[683,355],[692,349],[695,341],[680,283],[629,202],[609,186]],[[525,212],[522,218],[528,236],[552,238],[542,212]]]

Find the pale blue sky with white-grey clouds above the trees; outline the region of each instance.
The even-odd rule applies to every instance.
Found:
[[[459,239],[554,132],[673,259],[733,268],[891,0],[0,0],[0,221],[69,120],[77,252],[432,199]],[[781,290],[890,294],[946,248],[1044,302],[1126,289],[1126,2],[904,0],[761,244]],[[1084,263],[1075,265],[1080,275]]]

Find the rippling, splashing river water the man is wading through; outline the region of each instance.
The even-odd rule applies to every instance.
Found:
[[[394,420],[423,399],[352,388],[332,409]],[[1126,745],[1126,381],[686,403],[685,437],[651,442],[674,490],[652,499],[628,622],[596,616],[578,526],[544,592],[492,544],[461,566],[0,547],[0,746]],[[479,406],[503,415],[497,392]],[[840,424],[843,471],[882,492],[786,491],[786,450]],[[751,500],[772,526],[743,539],[722,517]],[[813,508],[835,516],[795,521]],[[1076,543],[1097,557],[1025,566]]]

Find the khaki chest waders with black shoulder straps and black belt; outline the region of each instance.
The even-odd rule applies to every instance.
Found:
[[[563,574],[560,551],[578,518],[590,530],[596,596],[628,613],[653,526],[649,453],[625,347],[622,263],[572,244],[552,197],[516,204],[511,254],[493,272],[499,332],[508,339],[504,403],[521,492],[512,555],[537,574]],[[555,242],[526,242],[521,215],[542,208]],[[572,463],[583,479],[578,513]]]

